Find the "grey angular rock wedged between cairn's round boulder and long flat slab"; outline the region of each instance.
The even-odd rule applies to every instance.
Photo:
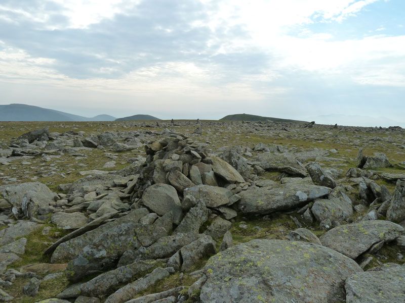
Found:
[[[210,185],[197,185],[186,188],[184,197],[192,196],[196,201],[204,201],[207,207],[215,208],[229,203],[229,197],[233,195],[232,191],[223,187]]]

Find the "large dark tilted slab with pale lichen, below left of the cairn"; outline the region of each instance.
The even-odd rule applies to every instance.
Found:
[[[118,225],[101,234],[68,263],[67,278],[70,281],[78,281],[89,274],[89,271],[111,269],[126,250],[150,246],[166,235],[167,231],[159,226],[138,223]]]

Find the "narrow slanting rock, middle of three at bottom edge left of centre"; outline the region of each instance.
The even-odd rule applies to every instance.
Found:
[[[118,289],[113,294],[111,294],[105,303],[124,303],[131,299],[138,292],[148,288],[157,281],[169,277],[170,273],[161,267],[156,268],[150,274],[146,275],[144,278],[136,280],[123,288]]]

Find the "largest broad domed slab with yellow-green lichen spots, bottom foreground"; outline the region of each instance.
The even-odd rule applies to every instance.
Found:
[[[255,239],[210,258],[201,303],[328,302],[345,299],[344,281],[361,268],[320,245]]]

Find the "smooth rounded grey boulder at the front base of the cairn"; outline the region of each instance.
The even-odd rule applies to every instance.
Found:
[[[179,224],[183,215],[176,189],[169,184],[153,184],[145,189],[142,203],[159,216],[173,213],[173,222]]]

